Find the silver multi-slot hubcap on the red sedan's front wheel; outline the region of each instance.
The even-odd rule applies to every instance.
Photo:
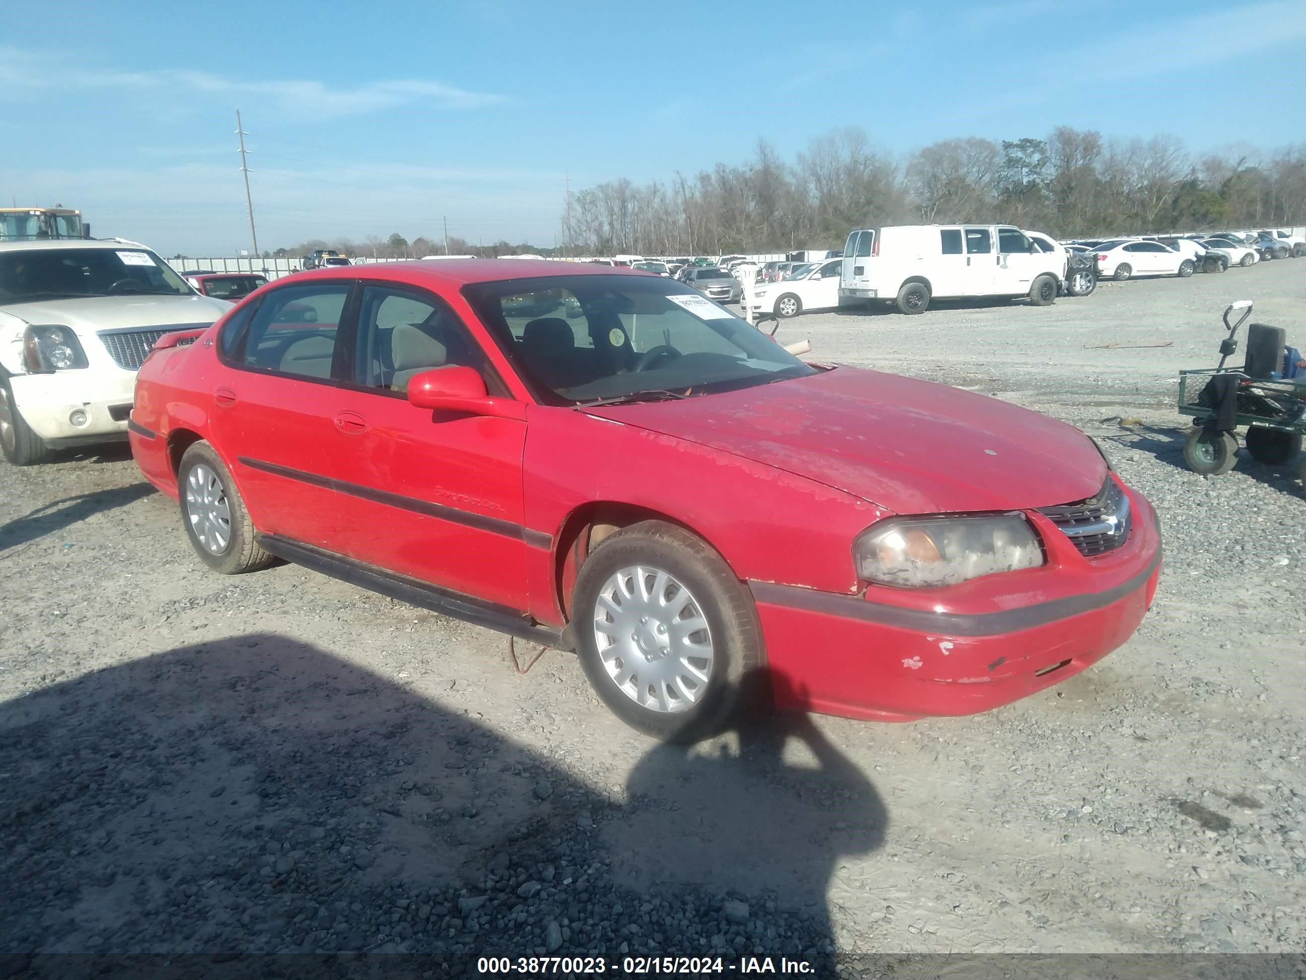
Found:
[[[603,583],[594,642],[613,683],[643,708],[686,711],[708,691],[708,621],[690,589],[661,568],[632,566]]]

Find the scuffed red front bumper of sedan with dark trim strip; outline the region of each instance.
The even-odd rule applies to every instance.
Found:
[[[914,606],[884,602],[904,589],[874,589],[870,600],[872,589],[751,583],[777,707],[887,721],[973,715],[1096,664],[1138,629],[1161,572],[1156,514],[1127,493],[1135,523],[1115,551],[1083,558],[1054,525],[1040,525],[1046,566],[953,587],[966,598],[951,609],[919,596]]]

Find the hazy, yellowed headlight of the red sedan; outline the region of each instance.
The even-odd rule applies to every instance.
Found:
[[[891,517],[853,544],[857,574],[882,585],[956,585],[1043,564],[1034,529],[1019,514],[986,517]]]

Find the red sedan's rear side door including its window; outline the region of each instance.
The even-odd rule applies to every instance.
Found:
[[[223,332],[212,388],[213,442],[255,527],[317,547],[343,523],[328,481],[333,371],[353,297],[354,284],[340,280],[269,291],[239,336]]]

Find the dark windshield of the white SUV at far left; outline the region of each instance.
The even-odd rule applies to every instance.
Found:
[[[0,303],[107,295],[191,295],[145,248],[24,248],[0,252]]]

